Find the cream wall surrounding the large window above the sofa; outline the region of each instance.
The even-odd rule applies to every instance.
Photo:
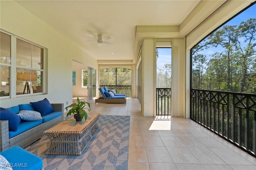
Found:
[[[72,103],[72,60],[97,68],[96,59],[56,32],[14,1],[1,1],[1,29],[48,49],[48,76],[45,95],[1,99],[1,107],[11,107],[47,98],[51,103]]]

